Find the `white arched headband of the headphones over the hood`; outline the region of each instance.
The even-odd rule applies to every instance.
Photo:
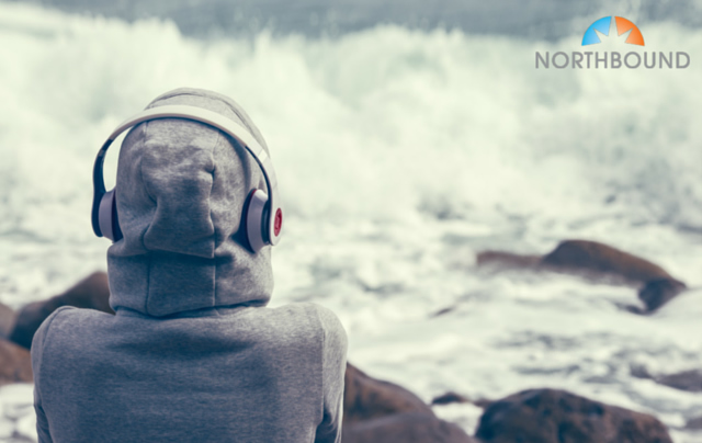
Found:
[[[103,179],[103,164],[105,155],[110,145],[125,130],[144,122],[160,120],[160,118],[183,118],[203,123],[222,130],[231,138],[236,139],[249,154],[256,159],[256,162],[263,172],[265,179],[265,185],[268,188],[268,202],[265,203],[264,214],[268,218],[265,226],[262,227],[264,231],[263,239],[270,245],[276,245],[280,240],[280,231],[282,224],[282,208],[280,206],[280,198],[278,193],[278,178],[275,177],[275,170],[273,169],[273,162],[268,152],[257,141],[257,139],[249,133],[249,130],[242,125],[234,122],[224,115],[216,112],[205,110],[203,107],[189,106],[189,105],[165,105],[157,106],[149,110],[145,110],[136,115],[124,121],[117,126],[110,137],[105,140],[98,152],[95,163],[93,166],[93,203],[92,203],[92,228],[98,237],[102,237],[103,232],[100,228],[100,203],[103,195],[105,195],[105,184]],[[268,237],[268,238],[267,238]],[[256,249],[256,248],[254,248]]]

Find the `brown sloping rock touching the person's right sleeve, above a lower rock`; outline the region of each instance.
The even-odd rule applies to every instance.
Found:
[[[431,408],[415,394],[394,383],[373,378],[350,363],[344,384],[344,425],[403,412],[434,417]]]

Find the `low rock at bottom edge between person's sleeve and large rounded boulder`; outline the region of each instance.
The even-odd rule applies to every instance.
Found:
[[[422,412],[343,425],[342,443],[477,443],[461,428]]]

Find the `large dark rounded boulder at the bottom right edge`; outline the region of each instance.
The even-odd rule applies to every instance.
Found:
[[[487,407],[485,443],[672,443],[655,417],[557,389],[529,389]]]

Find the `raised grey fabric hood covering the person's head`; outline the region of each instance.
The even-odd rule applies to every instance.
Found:
[[[186,104],[247,127],[253,122],[222,94],[178,89],[147,109]],[[110,306],[148,316],[265,305],[273,291],[271,248],[248,249],[244,205],[265,190],[263,172],[236,140],[207,125],[166,118],[141,123],[120,151],[116,204],[123,238],[107,251]]]

